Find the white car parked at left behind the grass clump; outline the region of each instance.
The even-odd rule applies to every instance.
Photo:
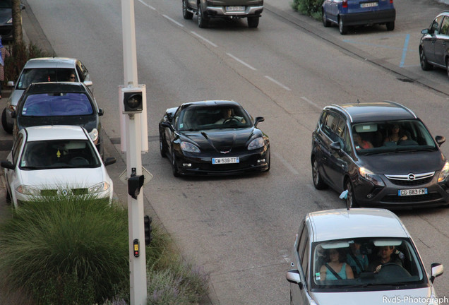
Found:
[[[113,183],[88,132],[80,126],[23,128],[7,160],[6,200],[15,208],[23,202],[57,193],[95,196],[112,203]]]

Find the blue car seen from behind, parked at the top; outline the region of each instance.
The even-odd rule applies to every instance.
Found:
[[[396,9],[393,0],[324,0],[323,25],[338,25],[341,35],[349,26],[384,24],[395,29]]]

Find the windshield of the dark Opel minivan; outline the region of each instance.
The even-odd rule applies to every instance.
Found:
[[[354,123],[352,139],[359,155],[438,149],[419,119]]]

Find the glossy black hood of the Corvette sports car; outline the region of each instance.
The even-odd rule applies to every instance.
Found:
[[[217,152],[246,148],[250,140],[257,138],[259,135],[261,136],[261,131],[257,128],[227,128],[182,132],[182,136],[195,143],[200,150],[215,150]]]

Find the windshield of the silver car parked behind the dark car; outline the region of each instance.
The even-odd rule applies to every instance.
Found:
[[[28,68],[23,70],[18,80],[17,89],[25,90],[32,83],[49,81],[70,81],[74,68]]]

